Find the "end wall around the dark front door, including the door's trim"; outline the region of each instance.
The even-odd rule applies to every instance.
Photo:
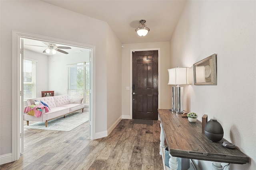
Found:
[[[126,87],[130,89],[130,49],[150,49],[150,48],[160,48],[161,51],[161,61],[160,61],[160,73],[161,82],[161,104],[158,108],[170,109],[170,88],[168,83],[168,71],[170,63],[170,43],[169,42],[156,42],[156,43],[134,43],[134,44],[123,44],[122,48],[122,115],[123,117],[130,116],[130,91],[126,90]]]

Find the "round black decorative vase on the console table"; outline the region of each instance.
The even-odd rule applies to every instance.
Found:
[[[223,138],[224,131],[216,119],[211,119],[204,127],[204,134],[211,141],[218,142]]]

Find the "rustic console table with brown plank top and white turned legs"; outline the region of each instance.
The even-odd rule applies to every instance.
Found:
[[[202,133],[202,123],[190,123],[188,118],[168,109],[158,109],[160,117],[160,155],[165,147],[164,139],[168,145],[171,170],[177,170],[176,157],[213,161],[212,170],[222,170],[221,162],[233,164],[246,164],[248,156],[238,149],[226,149],[219,142],[210,141]],[[228,167],[229,168],[229,167]]]

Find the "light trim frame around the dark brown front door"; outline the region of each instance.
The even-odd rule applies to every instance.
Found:
[[[148,48],[148,49],[130,49],[130,87],[132,87],[132,53],[134,51],[158,51],[158,109],[161,103],[161,71],[160,71],[160,58],[161,58],[161,48]],[[132,88],[130,88],[130,119],[132,119]],[[159,116],[158,116],[159,120]]]

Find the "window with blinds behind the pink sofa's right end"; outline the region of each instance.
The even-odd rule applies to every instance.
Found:
[[[68,95],[84,98],[83,103],[89,105],[90,63],[76,63],[68,66]]]

